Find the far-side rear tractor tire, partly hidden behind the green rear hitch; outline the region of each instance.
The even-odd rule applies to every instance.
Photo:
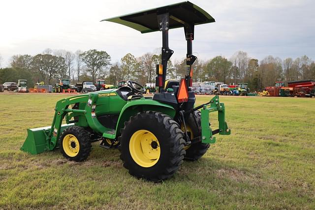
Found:
[[[198,126],[196,125],[194,118],[196,119],[196,122],[198,123]],[[190,113],[189,117],[186,119],[186,122],[189,127],[190,132],[190,139],[193,139],[195,137],[201,136],[201,113],[200,111],[196,110],[192,113]],[[188,161],[196,161],[199,158],[201,158],[210,147],[209,143],[202,143],[202,142],[196,142],[193,143],[186,149],[186,155],[185,160]]]

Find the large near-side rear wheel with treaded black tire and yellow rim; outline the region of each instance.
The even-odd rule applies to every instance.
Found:
[[[174,175],[183,163],[183,137],[178,123],[168,115],[139,112],[122,129],[120,158],[130,175],[158,182]]]

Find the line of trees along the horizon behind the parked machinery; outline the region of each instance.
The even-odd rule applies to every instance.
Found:
[[[0,69],[0,82],[28,79],[29,83],[44,81],[53,85],[59,78],[72,82],[105,79],[108,84],[119,80],[136,80],[141,84],[155,83],[156,65],[161,55],[148,52],[140,57],[127,53],[120,62],[111,63],[106,51],[91,49],[66,50],[46,49],[35,56],[14,55],[10,67]],[[1,64],[0,56],[0,64]],[[186,73],[186,59],[169,61],[166,78],[180,79]],[[251,90],[260,91],[273,86],[276,81],[315,79],[315,62],[306,55],[284,60],[267,56],[261,61],[248,53],[238,51],[230,58],[216,56],[208,61],[197,59],[193,65],[193,82],[221,81],[226,84],[247,82]]]

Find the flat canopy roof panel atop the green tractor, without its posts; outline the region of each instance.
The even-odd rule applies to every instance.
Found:
[[[189,1],[108,18],[101,21],[119,23],[141,33],[149,33],[159,31],[157,15],[167,12],[169,13],[169,29],[184,27],[185,23],[200,25],[215,22],[215,19],[211,17],[211,15]]]

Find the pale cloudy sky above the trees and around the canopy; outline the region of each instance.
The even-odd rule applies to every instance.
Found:
[[[112,63],[127,53],[139,57],[158,52],[161,33],[140,32],[100,22],[180,0],[6,0],[0,2],[2,67],[16,54],[36,55],[45,49],[106,51]],[[251,58],[268,55],[315,60],[314,0],[191,0],[215,23],[195,26],[193,54],[202,60],[230,58],[242,50]],[[169,31],[171,60],[186,57],[184,30]]]

